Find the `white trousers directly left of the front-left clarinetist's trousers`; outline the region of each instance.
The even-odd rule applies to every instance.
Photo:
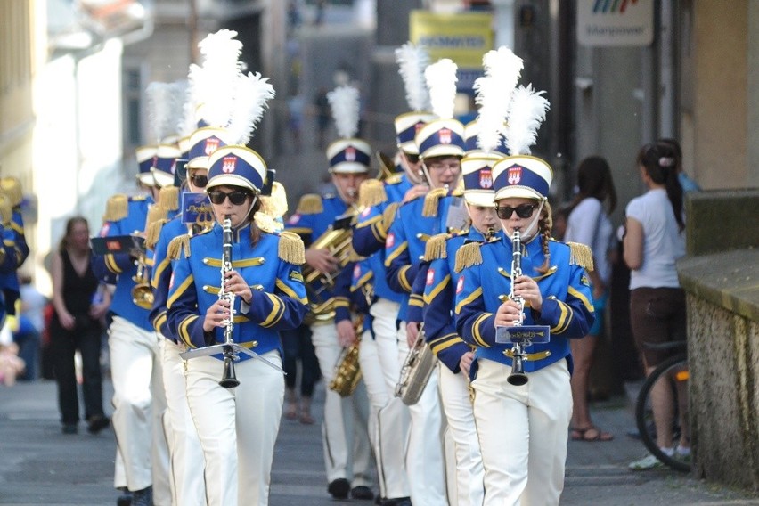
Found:
[[[203,450],[195,424],[192,422],[187,389],[184,385],[184,360],[179,356],[186,347],[171,339],[161,341],[163,352],[163,385],[166,388],[168,449],[171,457],[171,486],[175,506],[206,504],[203,477]]]

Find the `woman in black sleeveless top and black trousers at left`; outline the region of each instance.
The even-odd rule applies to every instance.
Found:
[[[81,216],[70,218],[51,265],[55,313],[50,333],[64,434],[78,432],[79,400],[74,367],[77,350],[82,356],[82,395],[87,430],[97,434],[110,423],[102,409],[100,366],[101,319],[110,306],[110,293],[99,290],[90,263],[89,240],[87,220]]]

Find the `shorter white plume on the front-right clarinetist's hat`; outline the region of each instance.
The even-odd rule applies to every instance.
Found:
[[[509,106],[509,126],[506,129],[506,146],[512,155],[530,154],[537,131],[551,104],[532,85],[519,86],[514,90]]]

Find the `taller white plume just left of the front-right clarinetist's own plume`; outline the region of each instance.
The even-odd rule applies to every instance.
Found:
[[[511,94],[525,64],[506,46],[488,51],[482,57],[485,76],[475,81],[475,102],[479,105],[477,146],[493,151],[506,135],[504,123],[509,113]]]

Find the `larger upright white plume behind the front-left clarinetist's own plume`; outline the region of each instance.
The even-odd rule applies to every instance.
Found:
[[[222,29],[200,41],[200,67],[190,70],[192,94],[200,118],[211,126],[226,126],[234,110],[234,88],[241,74],[242,43],[236,31]]]

